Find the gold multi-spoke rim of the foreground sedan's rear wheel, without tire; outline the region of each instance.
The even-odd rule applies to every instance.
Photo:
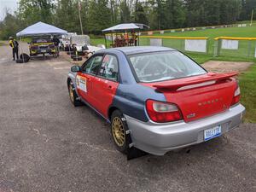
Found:
[[[119,117],[113,118],[112,122],[112,135],[114,142],[122,147],[125,144],[125,128],[123,122]]]

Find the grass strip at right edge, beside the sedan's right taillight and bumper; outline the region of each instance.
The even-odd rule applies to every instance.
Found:
[[[244,120],[256,123],[256,64],[239,76],[241,103],[247,109]]]

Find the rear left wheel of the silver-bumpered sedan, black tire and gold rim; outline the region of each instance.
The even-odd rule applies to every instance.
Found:
[[[127,154],[129,144],[131,143],[131,137],[130,134],[126,133],[129,129],[123,113],[119,110],[113,111],[110,126],[111,136],[115,147],[119,152]]]

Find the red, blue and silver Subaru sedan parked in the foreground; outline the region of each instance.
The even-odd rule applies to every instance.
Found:
[[[175,49],[124,47],[73,66],[67,87],[74,106],[86,103],[108,120],[119,151],[163,155],[241,124],[236,75],[208,73]]]

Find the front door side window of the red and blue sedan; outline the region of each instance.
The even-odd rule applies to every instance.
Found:
[[[84,73],[96,74],[102,64],[102,55],[94,56],[83,67]]]

